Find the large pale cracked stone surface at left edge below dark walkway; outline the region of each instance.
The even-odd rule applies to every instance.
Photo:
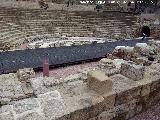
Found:
[[[0,75],[0,84],[0,102],[2,105],[8,104],[12,100],[19,100],[26,97],[16,74]]]

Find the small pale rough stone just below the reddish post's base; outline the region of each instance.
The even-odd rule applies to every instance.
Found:
[[[56,85],[62,84],[63,81],[61,79],[56,79],[54,77],[44,77],[43,78],[43,83],[47,87],[52,87],[52,86],[56,86]]]

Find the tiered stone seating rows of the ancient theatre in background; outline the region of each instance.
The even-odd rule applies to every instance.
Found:
[[[136,20],[119,12],[0,8],[0,40],[19,45],[27,37],[46,34],[124,39],[128,29],[136,30]]]

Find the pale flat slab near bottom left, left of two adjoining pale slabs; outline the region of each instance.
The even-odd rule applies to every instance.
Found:
[[[21,114],[29,110],[35,110],[37,108],[39,108],[39,104],[36,98],[20,100],[13,104],[13,110],[16,114]]]

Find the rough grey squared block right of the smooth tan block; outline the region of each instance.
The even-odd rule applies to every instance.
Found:
[[[145,68],[132,62],[122,63],[120,73],[132,80],[143,79]]]

